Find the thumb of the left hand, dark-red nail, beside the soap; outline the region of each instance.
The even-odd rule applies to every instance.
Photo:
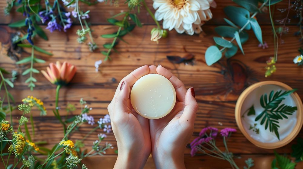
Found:
[[[117,96],[115,97],[114,113],[112,114],[113,119],[121,119],[123,116],[128,114],[127,106],[128,106],[129,92],[130,89],[128,82],[125,81],[124,83],[122,83],[121,91],[119,91]]]

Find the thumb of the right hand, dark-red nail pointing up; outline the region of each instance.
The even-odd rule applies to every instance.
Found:
[[[185,107],[180,120],[184,123],[194,124],[198,111],[198,104],[195,99],[194,88],[189,88],[185,95]]]

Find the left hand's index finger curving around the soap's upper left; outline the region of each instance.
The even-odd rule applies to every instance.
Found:
[[[144,65],[144,66],[141,66],[141,67],[137,68],[136,70],[132,71],[127,76],[125,76],[120,81],[113,99],[115,99],[115,97],[117,96],[118,92],[120,91],[120,86],[121,86],[122,81],[126,81],[128,83],[128,85],[131,87],[131,86],[133,86],[135,84],[135,82],[139,78],[141,78],[144,75],[147,75],[148,73],[149,73],[149,67],[148,67],[148,65]]]

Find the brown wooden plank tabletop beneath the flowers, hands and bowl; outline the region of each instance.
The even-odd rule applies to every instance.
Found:
[[[72,79],[71,83],[61,89],[59,106],[64,108],[68,103],[75,104],[77,110],[74,114],[79,112],[79,99],[82,97],[87,101],[89,107],[92,107],[91,115],[95,119],[99,119],[105,114],[108,114],[107,106],[112,100],[118,82],[132,70],[142,65],[158,65],[161,64],[165,68],[173,72],[181,81],[184,82],[186,88],[191,86],[195,88],[196,99],[199,104],[197,119],[195,122],[194,134],[191,137],[192,141],[200,130],[206,126],[213,126],[219,129],[225,127],[237,128],[234,116],[235,103],[241,92],[249,85],[265,80],[281,81],[292,88],[298,88],[298,94],[303,97],[303,69],[294,65],[292,59],[298,55],[298,48],[301,46],[298,37],[293,33],[298,30],[296,26],[297,20],[291,19],[287,23],[289,32],[283,35],[284,44],[279,44],[277,72],[274,75],[265,78],[265,62],[274,54],[273,34],[268,17],[268,13],[258,14],[257,19],[261,24],[263,39],[268,43],[268,49],[258,48],[258,40],[255,38],[253,32],[249,32],[249,41],[243,45],[245,56],[238,51],[238,53],[231,59],[222,59],[219,63],[213,66],[207,66],[205,63],[205,50],[208,46],[214,45],[213,36],[217,36],[214,28],[218,25],[224,25],[223,18],[226,18],[223,8],[227,5],[235,5],[231,0],[217,0],[218,7],[211,9],[213,19],[205,24],[202,29],[203,33],[200,35],[189,36],[186,34],[178,34],[175,30],[169,32],[168,38],[161,39],[159,44],[150,41],[150,31],[155,27],[154,22],[147,12],[142,9],[139,15],[140,20],[144,23],[143,27],[136,27],[131,34],[126,35],[124,40],[128,42],[119,42],[117,50],[119,53],[113,53],[112,61],[103,62],[99,72],[95,72],[94,63],[97,60],[104,59],[100,54],[102,45],[110,43],[110,39],[103,39],[101,34],[112,33],[116,27],[109,25],[106,18],[126,10],[127,6],[120,3],[118,7],[99,3],[88,7],[82,5],[81,8],[91,10],[90,22],[92,23],[93,37],[100,49],[91,53],[86,45],[78,44],[76,41],[76,30],[79,25],[74,25],[70,30],[65,32],[55,31],[50,33],[45,32],[49,40],[35,39],[35,44],[43,49],[53,53],[53,56],[47,56],[42,53],[35,53],[38,58],[46,60],[46,63],[35,64],[38,70],[45,70],[51,62],[68,60],[77,66],[77,73]],[[152,1],[147,2],[149,7],[152,7]],[[6,6],[5,1],[0,1],[0,11],[3,11]],[[286,8],[288,1],[281,2],[276,8]],[[153,10],[154,11],[154,10]],[[291,12],[290,16],[294,14]],[[22,17],[21,14],[12,13],[10,16],[4,16],[0,12],[0,67],[7,70],[24,71],[29,65],[17,66],[14,59],[20,59],[30,55],[30,50],[25,49],[22,53],[15,53],[15,58],[8,58],[6,56],[11,44],[11,36],[16,32],[7,26],[8,23],[18,21]],[[285,18],[285,13],[276,11],[275,19]],[[45,28],[45,26],[42,26]],[[195,56],[194,65],[173,64],[166,59],[166,56],[185,56],[186,54],[193,54]],[[47,147],[52,147],[58,143],[63,136],[62,127],[52,114],[52,109],[55,108],[55,85],[50,84],[43,75],[35,75],[38,82],[34,91],[30,91],[24,81],[27,76],[19,76],[15,82],[15,88],[10,90],[16,100],[16,104],[20,104],[22,98],[28,95],[34,95],[44,101],[45,107],[48,110],[47,116],[39,116],[38,111],[33,111],[35,121],[35,141],[45,140],[49,143]],[[1,91],[2,92],[2,91]],[[1,93],[2,95],[3,93]],[[62,116],[66,113],[62,111]],[[20,112],[14,111],[13,117],[15,122],[20,116]],[[221,124],[221,125],[220,125]],[[90,125],[82,126],[78,132],[73,134],[72,140],[80,139],[91,130]],[[31,130],[31,129],[30,129]],[[97,139],[97,134],[102,132],[97,130],[90,137],[88,137],[85,144],[90,149],[92,142]],[[298,137],[302,137],[301,131]],[[105,139],[116,148],[116,141],[113,133],[108,134]],[[221,140],[218,139],[219,148],[223,149]],[[278,148],[279,153],[290,153],[291,145],[296,142],[296,139],[290,144]],[[238,130],[234,133],[228,141],[228,147],[236,156],[236,162],[239,167],[243,167],[245,159],[253,158],[255,160],[255,168],[270,168],[271,161],[274,158],[273,150],[258,148],[251,144],[243,134]],[[115,149],[110,150],[103,157],[92,157],[85,160],[89,168],[112,168],[116,154]],[[189,155],[190,148],[185,152],[185,164],[187,168],[230,168],[226,161],[220,161],[205,155],[197,155],[191,157]],[[218,161],[218,162],[217,162]],[[297,168],[302,167],[299,164]],[[151,158],[145,168],[155,168]]]

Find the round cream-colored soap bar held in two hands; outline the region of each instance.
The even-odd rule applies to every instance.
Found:
[[[148,74],[139,78],[132,87],[131,103],[141,116],[159,119],[174,108],[176,91],[164,76]]]

